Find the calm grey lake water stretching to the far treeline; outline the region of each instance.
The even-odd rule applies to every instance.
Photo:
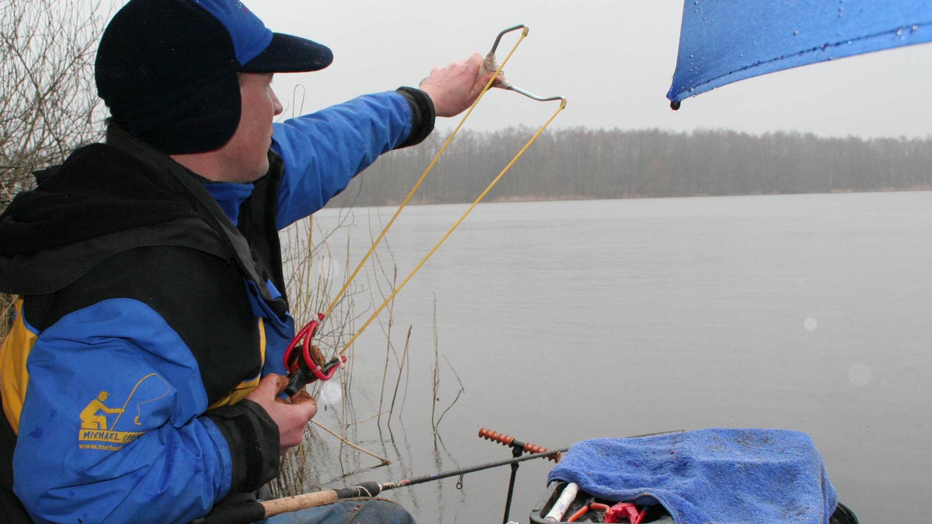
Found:
[[[391,255],[379,250],[389,276],[392,257],[400,281],[465,208],[404,210]],[[357,209],[354,225],[330,237],[334,262],[324,266],[337,280],[347,235],[354,266],[369,224],[393,211]],[[337,210],[315,216],[325,230],[339,221]],[[413,327],[391,428],[386,415],[380,426],[371,418],[384,323],[356,343],[349,397],[318,413],[334,429],[356,422],[349,439],[393,463],[373,467],[316,432],[307,488],[510,457],[476,436],[482,426],[550,448],[772,427],[812,435],[861,522],[913,521],[932,491],[930,269],[932,192],[480,205],[396,298],[399,355]],[[381,302],[367,275],[353,297],[357,325],[373,309],[370,292]],[[457,376],[464,390],[436,436],[434,303],[435,417],[457,396]],[[383,410],[397,369],[392,357]],[[528,522],[552,465],[521,465],[512,519]],[[461,490],[452,478],[385,495],[422,524],[500,522],[509,475],[503,467],[465,476]]]

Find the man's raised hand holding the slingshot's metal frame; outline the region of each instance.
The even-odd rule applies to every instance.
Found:
[[[430,95],[437,117],[456,117],[473,105],[494,73],[479,76],[482,62],[482,56],[473,53],[473,56],[446,67],[434,67],[431,76],[420,81],[418,88]],[[496,79],[492,86],[498,84]]]

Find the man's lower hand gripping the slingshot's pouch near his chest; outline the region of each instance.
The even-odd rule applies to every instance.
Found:
[[[317,414],[317,403],[306,391],[295,394],[290,402],[279,398],[278,394],[287,385],[288,379],[269,373],[259,381],[253,393],[246,397],[263,407],[272,421],[278,424],[282,455],[288,448],[301,444],[304,428]]]

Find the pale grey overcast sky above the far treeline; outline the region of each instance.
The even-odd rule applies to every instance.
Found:
[[[724,1],[724,0],[722,0]],[[246,0],[273,31],[334,50],[318,73],[279,75],[286,107],[296,84],[304,109],[357,94],[417,85],[434,65],[483,54],[500,30],[530,34],[505,69],[541,95],[562,94],[553,126],[675,131],[811,131],[822,136],[925,137],[932,133],[932,46],[898,48],[758,76],[687,99],[674,113],[665,98],[677,59],[681,0]],[[500,58],[516,34],[502,42]],[[539,126],[555,110],[514,92],[492,92],[468,129]],[[290,114],[290,113],[289,113]],[[456,121],[443,119],[440,127]]]

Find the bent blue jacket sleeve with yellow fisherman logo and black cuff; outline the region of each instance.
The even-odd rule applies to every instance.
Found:
[[[27,369],[14,490],[36,522],[189,522],[277,474],[256,451],[274,422],[246,400],[203,415],[198,362],[142,302],[62,317]]]

